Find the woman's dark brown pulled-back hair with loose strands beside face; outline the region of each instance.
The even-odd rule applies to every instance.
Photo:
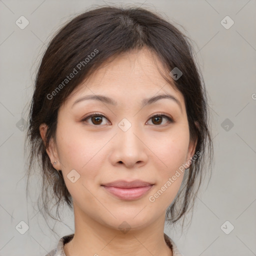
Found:
[[[55,141],[59,107],[74,88],[105,61],[143,47],[147,47],[162,63],[166,73],[161,74],[166,82],[182,93],[189,139],[193,142],[197,139],[195,152],[199,152],[184,172],[180,189],[167,208],[165,219],[174,224],[193,207],[203,174],[211,173],[206,164],[212,162],[213,150],[207,94],[191,45],[190,39],[160,14],[135,6],[99,6],[75,16],[56,32],[36,73],[25,138],[28,144],[25,150],[29,148],[27,184],[33,163],[37,160],[40,166],[42,187],[38,208],[42,214],[46,212],[56,219],[60,204],[67,204],[72,209],[72,197],[62,172],[53,168],[46,152],[50,138]],[[182,71],[177,80],[169,74],[174,67]],[[76,74],[67,80],[67,75],[74,70]],[[47,125],[45,144],[39,133],[42,123]],[[49,210],[49,201],[57,206],[55,216]]]

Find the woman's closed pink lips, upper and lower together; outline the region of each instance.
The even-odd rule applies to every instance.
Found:
[[[150,182],[136,179],[133,181],[116,180],[101,186],[120,199],[134,200],[144,195],[153,185]]]

